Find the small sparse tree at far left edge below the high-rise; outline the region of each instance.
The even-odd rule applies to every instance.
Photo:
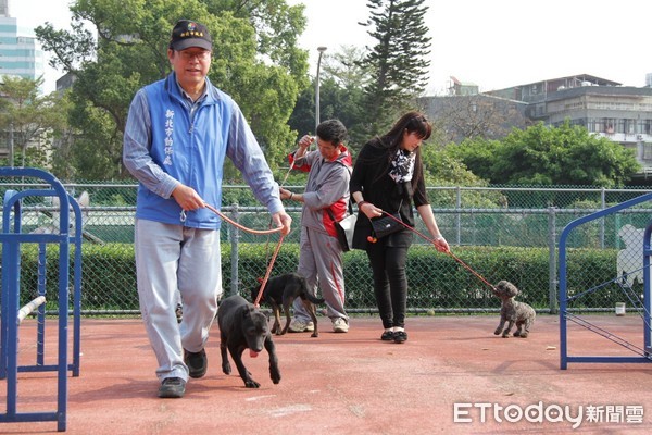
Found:
[[[42,78],[33,80],[16,76],[2,76],[0,129],[8,133],[14,150],[20,150],[20,166],[47,166],[47,150],[60,132],[65,129],[65,114],[57,104],[54,95],[41,96]],[[39,147],[29,145],[39,140]],[[32,156],[29,156],[32,154]],[[15,164],[14,162],[10,164]]]

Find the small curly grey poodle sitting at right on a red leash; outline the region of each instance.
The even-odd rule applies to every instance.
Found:
[[[501,299],[502,307],[500,309],[500,324],[493,334],[500,335],[502,333],[503,338],[507,338],[512,326],[516,323],[514,337],[527,338],[529,328],[537,316],[535,310],[527,303],[514,300],[514,297],[518,295],[518,288],[509,281],[503,279],[498,283],[494,294]],[[509,322],[507,327],[503,330],[505,322]]]

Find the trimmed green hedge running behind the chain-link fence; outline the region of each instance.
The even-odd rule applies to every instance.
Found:
[[[238,291],[249,297],[250,288],[264,276],[273,246],[264,244],[238,245]],[[230,245],[224,244],[223,286],[231,288]],[[74,247],[71,248],[71,258]],[[513,282],[522,291],[518,299],[537,309],[550,307],[549,251],[546,248],[511,247],[454,247],[455,256],[487,282],[496,285],[500,279]],[[568,291],[572,295],[601,286],[613,279],[617,250],[568,251]],[[286,243],[276,259],[273,275],[294,271],[299,247]],[[21,302],[35,297],[38,283],[38,249],[25,245],[22,249]],[[48,246],[46,252],[46,287],[48,306],[57,307],[59,271],[58,247]],[[52,266],[54,265],[54,266]],[[74,271],[71,263],[71,272]],[[372,276],[366,253],[351,251],[344,254],[344,279],[347,283],[347,308],[352,312],[375,309]],[[415,245],[409,252],[408,279],[410,283],[408,306],[411,310],[496,310],[500,303],[488,286],[453,257],[437,252],[429,246]],[[71,287],[72,287],[71,277]],[[595,293],[577,302],[579,308],[609,308],[623,301],[616,286]],[[134,246],[108,244],[83,246],[83,310],[138,310]]]

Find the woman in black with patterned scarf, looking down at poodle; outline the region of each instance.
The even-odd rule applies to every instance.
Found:
[[[423,114],[405,113],[387,134],[375,137],[362,148],[351,175],[350,191],[359,210],[353,248],[366,250],[369,258],[374,294],[385,327],[380,338],[387,341],[408,339],[405,261],[413,233],[399,224],[394,233],[377,237],[372,220],[398,212],[400,219],[413,227],[414,202],[435,247],[442,252],[449,250],[437,226],[424,182],[419,147],[431,133],[432,127]]]

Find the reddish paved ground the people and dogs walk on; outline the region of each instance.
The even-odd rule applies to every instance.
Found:
[[[642,344],[640,318],[591,319]],[[318,338],[308,333],[275,337],[283,375],[278,385],[268,377],[264,352],[256,359],[244,353],[260,389],[247,389],[237,375],[222,374],[214,326],[206,376],[191,380],[183,399],[159,399],[155,362],[141,321],[85,319],[82,374],[68,377],[66,433],[647,434],[652,430],[652,364],[575,363],[562,371],[556,316],[539,315],[527,339],[494,336],[493,315],[410,318],[410,338],[403,345],[379,340],[377,318],[353,318],[348,334],[331,333],[328,320],[319,320]],[[29,322],[21,328],[22,363],[34,361]],[[573,355],[630,355],[577,326],[572,327],[569,343]],[[20,412],[54,410],[53,373],[18,377]],[[4,381],[0,393],[4,411]],[[554,413],[565,407],[569,414]],[[55,422],[0,423],[2,434],[55,430]]]

